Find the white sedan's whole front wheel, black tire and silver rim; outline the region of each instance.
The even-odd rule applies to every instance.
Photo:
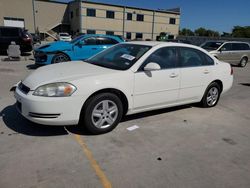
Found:
[[[112,131],[123,115],[122,102],[112,93],[101,93],[87,100],[81,112],[80,123],[92,134]]]

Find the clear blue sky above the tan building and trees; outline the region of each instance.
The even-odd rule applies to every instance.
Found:
[[[155,10],[180,7],[181,29],[195,30],[204,27],[222,33],[231,32],[236,25],[250,26],[250,0],[94,0],[93,2]]]

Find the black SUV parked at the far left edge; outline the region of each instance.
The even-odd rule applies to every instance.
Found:
[[[20,46],[21,52],[30,52],[33,49],[32,36],[27,30],[0,26],[0,51],[6,52],[12,41]]]

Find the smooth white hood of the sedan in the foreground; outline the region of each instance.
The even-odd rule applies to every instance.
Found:
[[[92,65],[83,61],[64,62],[40,67],[23,80],[31,90],[54,82],[72,82],[84,77],[110,74],[117,70]]]

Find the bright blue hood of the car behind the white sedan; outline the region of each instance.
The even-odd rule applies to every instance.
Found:
[[[63,50],[72,50],[72,44],[65,41],[57,41],[49,44],[42,45],[35,49],[36,51],[43,52],[53,52],[53,51],[63,51]]]

